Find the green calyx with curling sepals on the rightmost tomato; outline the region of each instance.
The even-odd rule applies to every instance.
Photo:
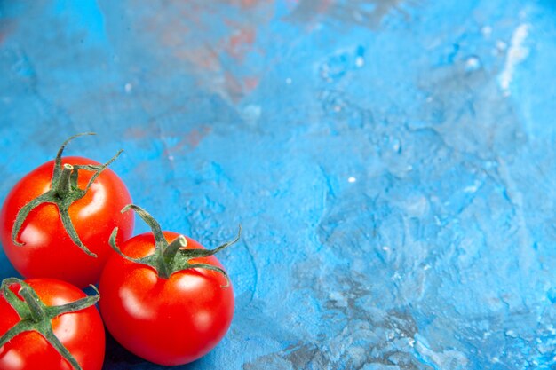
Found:
[[[224,248],[231,246],[240,240],[242,234],[242,226],[239,226],[237,236],[234,240],[228,241],[217,248],[214,249],[203,249],[203,248],[185,248],[187,247],[187,239],[183,235],[179,235],[175,240],[171,240],[169,243],[166,238],[164,238],[163,231],[160,224],[156,222],[155,218],[147,213],[145,209],[141,209],[139,206],[134,204],[129,204],[122,209],[123,212],[133,209],[139,217],[150,227],[153,236],[155,237],[155,252],[152,255],[142,257],[142,258],[132,258],[123,254],[122,250],[117,247],[116,235],[118,233],[118,228],[115,227],[112,235],[110,235],[110,246],[123,258],[134,262],[136,264],[145,264],[155,269],[158,276],[163,279],[169,279],[171,274],[174,272],[180,272],[187,269],[206,269],[221,273],[226,278],[226,285],[223,287],[229,287],[230,279],[223,269],[212,264],[197,264],[191,263],[190,261],[195,258],[202,258],[213,256],[217,254]]]

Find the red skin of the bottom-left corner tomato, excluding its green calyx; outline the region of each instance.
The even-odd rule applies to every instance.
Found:
[[[75,302],[86,295],[77,287],[57,279],[26,279],[46,305]],[[0,293],[0,335],[20,318]],[[54,334],[75,357],[83,370],[100,370],[105,355],[105,332],[94,306],[52,319]],[[2,370],[74,370],[68,361],[36,332],[16,335],[0,347]]]

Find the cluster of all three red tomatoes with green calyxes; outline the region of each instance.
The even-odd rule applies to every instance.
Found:
[[[62,158],[75,137],[4,201],[2,246],[25,280],[4,279],[0,287],[0,369],[99,370],[104,326],[127,350],[156,364],[202,357],[234,314],[234,292],[213,255],[239,233],[205,249],[163,232],[107,169],[120,153],[105,164]],[[151,232],[131,237],[132,211]],[[83,293],[88,285],[95,295]]]

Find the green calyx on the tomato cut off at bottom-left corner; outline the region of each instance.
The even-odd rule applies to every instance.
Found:
[[[13,293],[10,288],[14,285],[19,286],[17,294],[20,295],[22,299]],[[35,331],[43,335],[44,339],[46,339],[46,341],[49,342],[75,370],[82,370],[77,360],[69,350],[64,347],[58,337],[54,335],[54,331],[52,330],[52,319],[63,313],[84,310],[99,302],[99,291],[96,287],[92,285],[91,287],[97,293],[96,295],[88,295],[75,302],[61,304],[59,306],[47,306],[41,301],[36,291],[25,281],[17,278],[2,280],[0,291],[2,295],[4,295],[4,299],[7,303],[18,313],[20,321],[0,337],[0,347],[10,342],[16,335]]]

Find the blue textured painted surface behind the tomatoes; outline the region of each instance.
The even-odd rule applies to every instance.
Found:
[[[553,369],[556,5],[449,3],[0,0],[0,197],[93,130],[165,229],[241,223],[184,369]]]

